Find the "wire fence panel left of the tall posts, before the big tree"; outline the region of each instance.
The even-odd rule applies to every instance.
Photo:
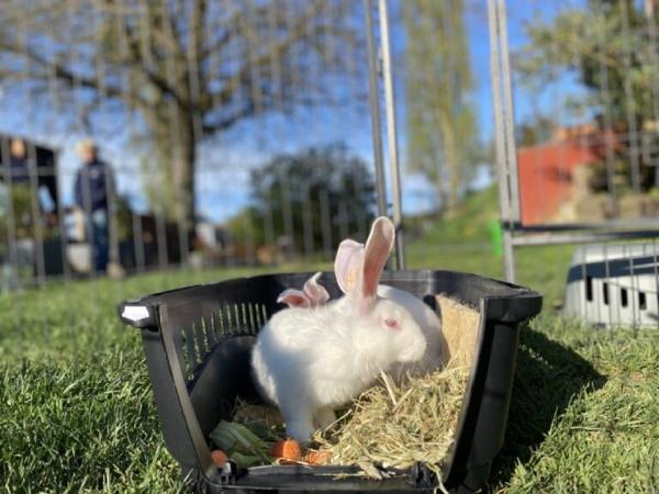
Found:
[[[386,2],[5,3],[4,288],[328,260],[377,205],[400,224]]]

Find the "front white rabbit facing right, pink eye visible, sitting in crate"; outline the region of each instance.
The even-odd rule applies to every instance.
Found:
[[[413,362],[426,339],[410,312],[377,297],[392,237],[379,218],[359,283],[336,302],[277,312],[258,335],[252,366],[264,394],[281,409],[287,434],[302,442],[334,422],[334,409],[394,362]]]

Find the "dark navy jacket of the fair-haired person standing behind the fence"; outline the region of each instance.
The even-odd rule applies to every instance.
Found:
[[[87,212],[108,210],[114,192],[112,169],[100,159],[82,165],[76,175],[74,194],[76,204]]]

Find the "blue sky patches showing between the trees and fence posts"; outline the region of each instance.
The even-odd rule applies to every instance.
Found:
[[[572,4],[581,4],[574,1]],[[492,135],[493,117],[491,105],[490,63],[488,41],[488,19],[485,0],[468,0],[466,22],[471,36],[471,61],[476,79],[473,101],[478,111],[479,134],[483,142]],[[548,19],[556,13],[556,2],[509,1],[509,36],[512,49],[524,43],[523,25],[532,19]],[[396,15],[396,2],[392,4],[392,18]],[[400,23],[392,19],[392,36],[396,54],[396,94],[399,111],[399,144],[401,162],[404,170],[405,122],[402,88],[403,64],[400,55],[404,48],[404,33]],[[366,60],[364,60],[366,63]],[[315,67],[319,75],[322,68]],[[367,81],[364,81],[365,88]],[[525,120],[534,111],[548,111],[556,105],[560,94],[578,91],[578,85],[568,77],[560,78],[541,94],[525,94],[516,91],[516,120]],[[15,108],[21,108],[16,111]],[[36,108],[31,99],[20,101],[9,96],[0,98],[0,132],[25,135],[62,150],[60,170],[65,202],[70,202],[72,175],[77,168],[74,154],[78,135],[58,130],[56,115],[44,120],[44,111]],[[113,122],[108,122],[109,124]],[[131,122],[126,123],[130,128]],[[368,112],[356,113],[351,110],[322,110],[313,114],[300,115],[293,122],[283,122],[278,116],[245,122],[212,145],[202,145],[199,153],[198,205],[201,212],[221,221],[235,214],[245,204],[248,197],[248,170],[258,166],[269,156],[280,151],[292,151],[300,147],[330,142],[345,142],[354,153],[372,162],[370,117]],[[125,133],[100,143],[104,157],[118,168],[119,186],[122,193],[129,194],[134,206],[145,209],[142,183],[136,180],[139,169],[135,153],[131,153]],[[144,179],[144,177],[143,177]],[[479,175],[477,181],[483,186],[491,177],[487,172]],[[230,186],[230,187],[227,187]],[[417,212],[433,207],[435,194],[422,177],[403,171],[403,203],[406,212]]]

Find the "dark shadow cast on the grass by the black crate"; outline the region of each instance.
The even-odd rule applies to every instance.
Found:
[[[595,391],[605,381],[569,347],[523,328],[505,441],[492,465],[490,485],[494,490],[505,485],[517,462],[530,459],[572,397],[582,390]]]

